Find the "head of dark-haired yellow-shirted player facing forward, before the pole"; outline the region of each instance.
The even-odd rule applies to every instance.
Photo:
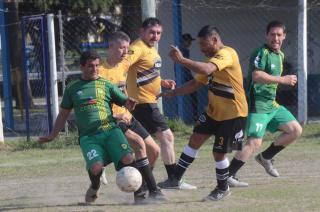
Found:
[[[147,18],[143,21],[140,37],[150,47],[156,45],[162,34],[162,25],[157,18]]]

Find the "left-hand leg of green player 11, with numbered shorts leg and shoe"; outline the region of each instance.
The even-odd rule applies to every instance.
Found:
[[[240,168],[262,145],[262,138],[270,121],[268,114],[250,113],[246,124],[247,142],[237,151],[229,166],[228,184],[230,187],[246,187],[248,183],[235,177]]]

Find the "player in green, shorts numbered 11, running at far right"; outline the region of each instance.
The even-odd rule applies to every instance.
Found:
[[[271,21],[266,29],[266,44],[254,50],[251,55],[247,78],[248,139],[242,151],[237,152],[231,161],[228,179],[230,186],[248,186],[248,183],[238,181],[235,175],[249,157],[261,147],[266,130],[272,133],[280,131],[281,134],[255,159],[273,177],[279,176],[272,164],[273,157],[302,133],[302,128],[295,117],[276,102],[278,84],[294,86],[297,83],[296,75],[281,76],[284,60],[281,46],[285,37],[285,25],[279,21]]]

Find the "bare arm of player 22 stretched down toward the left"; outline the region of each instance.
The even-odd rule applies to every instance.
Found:
[[[47,143],[55,139],[59,134],[60,130],[64,127],[70,112],[71,109],[60,108],[53,130],[46,136],[40,136],[38,138],[38,143]]]

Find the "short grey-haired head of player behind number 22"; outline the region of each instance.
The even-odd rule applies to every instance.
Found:
[[[125,58],[129,51],[130,37],[122,32],[117,31],[112,33],[108,38],[109,49],[108,57],[112,57],[115,62],[120,62]]]

